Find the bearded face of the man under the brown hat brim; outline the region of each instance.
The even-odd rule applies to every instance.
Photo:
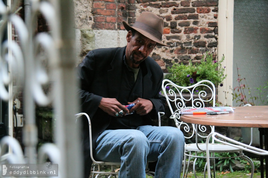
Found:
[[[132,32],[129,31],[126,40],[128,42],[126,45],[126,63],[133,68],[137,68],[156,46],[155,41],[139,32],[135,32],[135,35],[132,36]]]

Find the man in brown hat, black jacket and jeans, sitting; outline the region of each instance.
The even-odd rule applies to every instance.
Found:
[[[157,161],[155,177],[180,177],[184,136],[176,127],[153,126],[164,111],[163,72],[148,55],[160,40],[163,19],[143,12],[133,26],[122,22],[127,45],[90,51],[77,67],[81,111],[90,116],[93,157],[121,162],[119,177],[145,178],[146,162]],[[131,109],[125,105],[134,103]],[[134,112],[134,113],[132,113]],[[88,123],[83,123],[84,171],[92,160]]]

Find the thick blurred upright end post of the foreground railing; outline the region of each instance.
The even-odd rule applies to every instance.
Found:
[[[55,63],[56,95],[54,99],[56,130],[55,142],[61,150],[61,164],[59,170],[64,170],[63,177],[82,177],[81,146],[79,143],[79,129],[75,124],[74,115],[78,111],[78,86],[75,73],[75,28],[73,15],[73,1],[60,0],[54,7],[59,13],[58,41],[59,61]],[[62,169],[60,169],[60,167]],[[76,170],[76,171],[74,171]],[[63,173],[63,172],[61,172]]]

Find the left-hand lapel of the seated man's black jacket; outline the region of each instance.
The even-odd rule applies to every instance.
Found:
[[[111,70],[108,74],[108,92],[110,98],[118,98],[122,81],[122,65],[125,48],[118,48],[113,61],[111,62]]]

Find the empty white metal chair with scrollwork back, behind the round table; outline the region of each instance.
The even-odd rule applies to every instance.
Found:
[[[184,130],[185,134],[190,134],[189,136],[184,136],[185,139],[192,138],[193,136],[196,137],[196,142],[192,144],[186,144],[184,147],[184,168],[183,168],[183,177],[187,177],[188,168],[189,168],[189,161],[191,157],[195,157],[193,163],[193,172],[196,177],[195,173],[195,163],[198,158],[206,158],[206,144],[205,143],[198,143],[198,138],[207,138],[208,133],[214,133],[214,126],[204,126],[204,125],[197,125],[197,124],[188,124],[185,122],[180,121],[180,111],[182,109],[187,108],[200,108],[200,107],[208,107],[215,106],[215,86],[209,80],[202,80],[192,86],[188,87],[181,87],[176,85],[175,83],[171,82],[168,79],[163,80],[162,82],[162,91],[166,97],[166,101],[168,103],[171,116],[170,119],[174,119],[176,127],[178,129]],[[173,110],[174,109],[174,110]],[[226,152],[239,152],[240,154],[237,157],[242,157],[247,161],[250,161],[250,158],[245,156],[242,153],[242,150],[236,148],[234,146],[226,145],[226,144],[218,144],[212,143],[207,144],[207,149],[212,156],[209,158],[218,158],[215,157],[214,153],[226,153]],[[198,156],[198,152],[203,152],[204,156]],[[187,169],[186,169],[186,158],[189,156]],[[223,158],[223,157],[221,157]],[[226,157],[227,158],[227,157]],[[228,157],[234,158],[234,157]],[[254,167],[253,162],[251,161],[251,166]],[[215,160],[213,159],[213,165],[215,170]],[[253,175],[254,168],[252,169]],[[204,177],[206,173],[206,166],[204,169]],[[214,174],[215,177],[215,174]]]

